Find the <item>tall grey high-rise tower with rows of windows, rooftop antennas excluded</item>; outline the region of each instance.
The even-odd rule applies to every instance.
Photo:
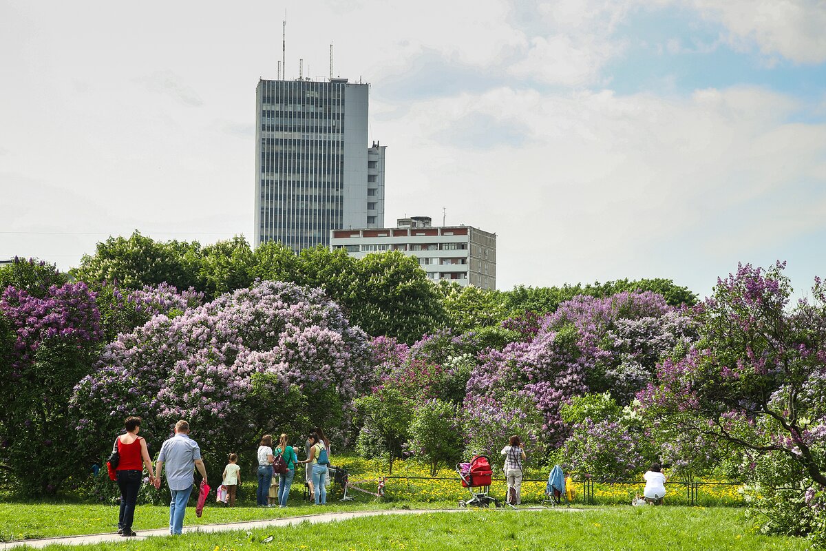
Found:
[[[385,146],[368,148],[369,84],[259,80],[254,245],[330,245],[334,228],[384,226]]]

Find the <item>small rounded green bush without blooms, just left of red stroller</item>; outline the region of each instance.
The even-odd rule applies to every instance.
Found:
[[[437,399],[415,406],[410,437],[411,448],[430,463],[431,477],[436,476],[439,463],[454,464],[462,458],[462,424],[449,402]]]

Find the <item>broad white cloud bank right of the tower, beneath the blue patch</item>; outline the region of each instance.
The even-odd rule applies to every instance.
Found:
[[[759,88],[672,100],[499,88],[420,102],[377,129],[394,145],[386,210],[435,216],[446,205],[449,222],[496,231],[504,287],[713,283],[710,262],[730,269],[823,229],[817,216],[785,222],[801,194],[826,186],[826,126],[787,122],[802,107]],[[527,139],[485,152],[444,142],[468,112],[524,126]]]

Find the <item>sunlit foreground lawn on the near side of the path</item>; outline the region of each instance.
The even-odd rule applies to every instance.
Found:
[[[273,536],[272,541],[263,540]],[[173,543],[174,542],[174,543]],[[344,520],[310,525],[226,532],[185,534],[178,539],[150,538],[68,548],[46,549],[485,549],[534,551],[762,551],[809,549],[805,539],[754,534],[743,511],[699,507],[611,507],[585,511],[467,511],[426,513]]]

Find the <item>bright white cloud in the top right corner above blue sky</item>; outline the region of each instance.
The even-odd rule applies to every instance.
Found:
[[[823,0],[688,0],[700,14],[731,32],[733,45],[754,42],[766,55],[795,63],[826,61]]]

